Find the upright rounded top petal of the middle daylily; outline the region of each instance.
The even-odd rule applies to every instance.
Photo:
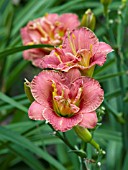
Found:
[[[70,38],[69,38],[70,37]],[[69,40],[70,39],[70,40]],[[71,41],[71,42],[70,42]],[[62,47],[64,52],[73,53],[71,43],[74,46],[74,51],[81,49],[90,50],[92,49],[93,54],[98,48],[98,39],[95,34],[86,27],[73,30],[69,36],[65,36]]]

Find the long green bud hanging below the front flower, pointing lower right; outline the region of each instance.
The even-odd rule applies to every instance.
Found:
[[[74,130],[76,134],[86,143],[90,143],[92,146],[94,146],[98,151],[100,151],[100,146],[98,143],[94,141],[92,138],[92,134],[88,131],[88,129],[83,128],[81,126],[75,126]]]

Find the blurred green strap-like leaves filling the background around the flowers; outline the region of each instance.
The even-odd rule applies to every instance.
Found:
[[[86,167],[90,170],[128,169],[128,2],[114,0],[104,14],[100,0],[1,0],[0,1],[0,170],[82,170],[80,159],[41,121],[28,118],[30,105],[24,78],[40,72],[23,60],[20,28],[45,13],[76,13],[81,20],[91,9],[95,34],[114,52],[94,78],[105,91],[103,120],[94,132],[106,154],[98,156],[88,144]],[[17,48],[19,47],[20,48]],[[98,110],[98,114],[102,109]],[[64,134],[71,145],[83,146],[72,130]],[[76,149],[77,149],[76,148]],[[98,166],[97,162],[101,162]]]

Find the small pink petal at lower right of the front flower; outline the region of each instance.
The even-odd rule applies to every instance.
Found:
[[[79,125],[88,129],[92,129],[96,126],[97,121],[98,119],[96,112],[83,113],[83,119]]]

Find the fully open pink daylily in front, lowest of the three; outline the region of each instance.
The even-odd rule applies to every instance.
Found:
[[[94,128],[95,110],[103,101],[98,81],[82,77],[78,69],[68,73],[44,70],[30,83],[34,101],[30,119],[47,120],[55,130],[65,132],[79,125]]]

